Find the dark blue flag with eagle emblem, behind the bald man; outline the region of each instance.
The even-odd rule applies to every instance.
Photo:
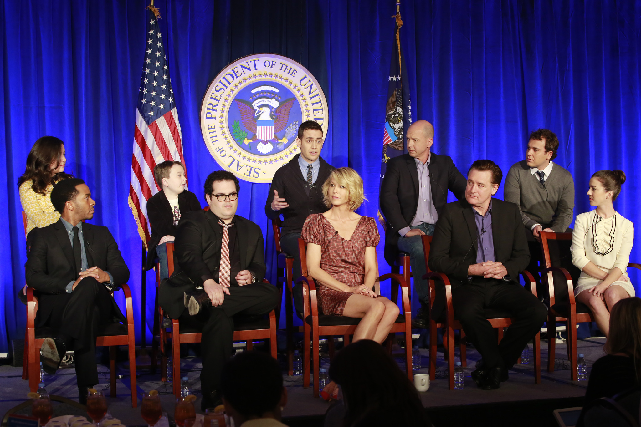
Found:
[[[390,75],[387,84],[387,104],[385,108],[385,124],[383,125],[383,154],[381,156],[381,182],[387,170],[387,161],[392,157],[407,152],[405,134],[412,124],[412,106],[410,105],[410,86],[401,49],[399,36],[403,21],[401,13],[395,15],[394,48],[390,62]],[[378,213],[378,220],[385,228],[385,220]]]

